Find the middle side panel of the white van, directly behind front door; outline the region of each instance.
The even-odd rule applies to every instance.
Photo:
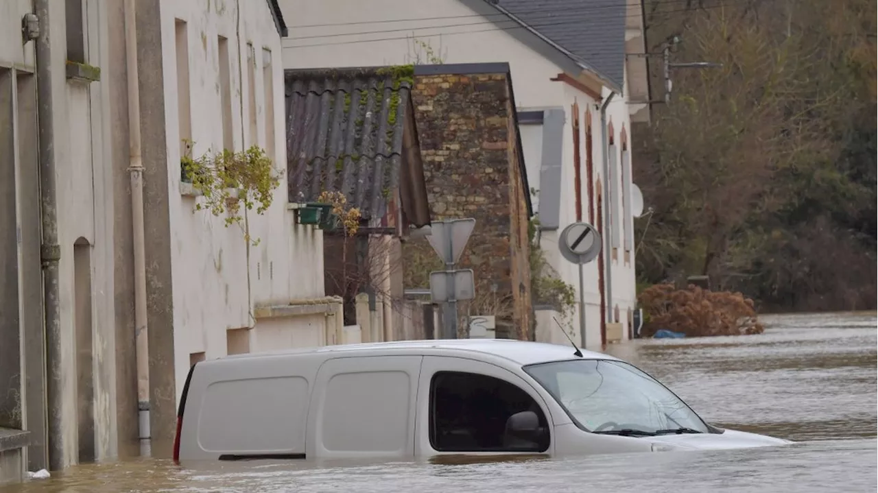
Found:
[[[307,456],[414,456],[422,359],[356,356],[325,361],[308,411]]]

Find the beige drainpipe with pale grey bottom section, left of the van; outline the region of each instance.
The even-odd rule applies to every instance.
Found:
[[[143,226],[143,160],[140,157],[140,87],[137,70],[135,0],[125,0],[125,50],[128,77],[131,224],[134,243],[134,350],[137,361],[138,437],[141,453],[149,439],[149,346],[147,262]]]

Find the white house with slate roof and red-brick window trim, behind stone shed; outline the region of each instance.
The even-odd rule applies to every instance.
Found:
[[[630,339],[636,307],[630,206],[630,129],[643,121],[641,8],[625,0],[280,0],[290,32],[284,68],[507,61],[551,267],[578,289],[578,266],[558,253],[566,225],[586,221],[604,235],[601,257],[583,267],[586,347]],[[292,20],[291,20],[292,19]],[[639,47],[638,47],[639,46]],[[632,90],[637,89],[637,90]],[[648,91],[647,91],[648,92]],[[634,104],[637,103],[637,104]],[[579,293],[578,293],[579,294]],[[565,325],[579,341],[579,304]],[[537,337],[565,341],[551,312]],[[542,335],[540,335],[542,333]]]

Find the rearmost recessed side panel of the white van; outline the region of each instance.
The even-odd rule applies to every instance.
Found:
[[[205,452],[305,453],[308,382],[300,376],[213,382],[198,418]]]

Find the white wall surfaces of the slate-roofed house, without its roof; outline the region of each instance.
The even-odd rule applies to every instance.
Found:
[[[565,282],[579,289],[577,267],[565,261],[558,254],[558,233],[565,225],[575,220],[574,180],[573,180],[573,138],[571,127],[571,108],[579,103],[580,118],[580,159],[582,182],[586,182],[586,140],[584,114],[588,107],[593,116],[594,139],[594,179],[602,177],[603,152],[600,108],[594,98],[564,82],[552,82],[551,78],[562,72],[554,62],[515,39],[509,32],[489,23],[477,13],[492,14],[497,11],[490,5],[477,4],[479,11],[473,11],[459,0],[435,0],[433,2],[411,2],[408,0],[280,0],[284,18],[290,25],[290,35],[283,40],[284,68],[327,68],[394,65],[414,62],[420,50],[417,41],[428,43],[437,54],[443,56],[445,63],[508,62],[515,85],[515,103],[519,108],[542,108],[563,106],[565,108],[564,129],[564,175],[562,176],[560,228],[558,232],[543,232],[541,246],[550,265],[558,271]],[[431,18],[429,20],[376,23],[377,20]],[[361,23],[344,25],[345,23]],[[297,27],[305,26],[305,27]],[[307,27],[313,26],[313,27]],[[432,26],[432,27],[430,27]],[[349,35],[345,35],[349,33]],[[350,34],[356,33],[356,34]],[[378,39],[378,41],[368,40]],[[429,61],[421,61],[429,63]],[[604,95],[608,94],[604,89]],[[608,121],[615,127],[615,139],[624,125],[630,129],[629,104],[623,95],[616,95],[608,107]],[[538,125],[522,125],[522,146],[528,168],[529,186],[538,189],[536,177],[539,175],[542,153],[542,128]],[[617,150],[619,147],[617,147]],[[621,155],[617,162],[621,163]],[[618,174],[621,176],[621,172]],[[613,194],[622,204],[621,190]],[[583,218],[587,218],[588,189],[582,190]],[[534,201],[535,211],[538,202]],[[597,207],[595,205],[595,212]],[[620,206],[621,210],[621,206]],[[607,231],[608,232],[608,231]],[[611,254],[607,254],[607,259]],[[630,266],[623,265],[623,249],[619,250],[619,260],[612,262],[608,269],[612,275],[612,306],[620,309],[619,321],[624,333],[628,333],[626,313],[634,304],[633,253]],[[598,289],[597,263],[584,267],[586,280],[585,303],[587,310],[587,347],[601,345],[601,296]],[[611,306],[611,307],[612,307]],[[612,322],[608,318],[608,322]],[[568,322],[579,334],[579,308],[572,313]],[[554,322],[552,322],[554,323]]]

